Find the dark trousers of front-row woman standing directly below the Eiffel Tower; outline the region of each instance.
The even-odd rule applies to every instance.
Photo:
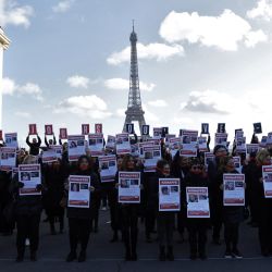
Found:
[[[122,233],[127,254],[136,254],[138,239],[138,213],[135,205],[122,206]]]

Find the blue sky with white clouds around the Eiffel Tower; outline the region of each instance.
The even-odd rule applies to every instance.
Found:
[[[4,52],[3,131],[29,123],[81,133],[121,132],[127,104],[132,20],[151,126],[226,122],[231,137],[252,123],[270,131],[270,0],[0,0]],[[128,51],[127,51],[128,50]],[[272,129],[272,127],[271,127]]]

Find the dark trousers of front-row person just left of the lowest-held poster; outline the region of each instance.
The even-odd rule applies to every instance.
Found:
[[[174,222],[175,214],[173,212],[159,212],[157,226],[160,247],[173,246]]]

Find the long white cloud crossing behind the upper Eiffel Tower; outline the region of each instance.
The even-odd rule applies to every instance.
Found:
[[[166,61],[176,55],[184,55],[184,49],[180,45],[164,45],[164,44],[137,44],[137,52],[139,60],[157,60]],[[120,52],[112,53],[107,62],[112,65],[119,65],[123,62],[129,62],[131,60],[131,47],[126,47]]]

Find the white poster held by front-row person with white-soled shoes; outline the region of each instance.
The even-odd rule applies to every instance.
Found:
[[[245,175],[223,175],[223,203],[224,206],[245,206]]]

